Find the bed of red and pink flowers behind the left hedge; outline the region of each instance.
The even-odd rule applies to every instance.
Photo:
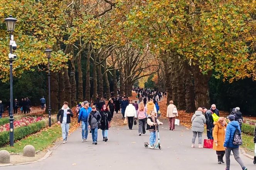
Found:
[[[27,126],[31,123],[38,122],[42,119],[43,119],[43,117],[22,117],[20,120],[15,120],[13,122],[13,126],[14,126],[14,128]],[[6,132],[9,130],[10,130],[10,123],[6,123],[6,124],[0,126],[0,132]]]

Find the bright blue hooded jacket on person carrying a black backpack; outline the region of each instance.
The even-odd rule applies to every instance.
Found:
[[[227,147],[227,148],[239,148],[238,145],[234,145],[232,143],[233,142],[234,133],[236,131],[236,127],[241,132],[239,123],[237,121],[234,120],[234,121],[229,122],[229,124],[227,124],[224,147]]]

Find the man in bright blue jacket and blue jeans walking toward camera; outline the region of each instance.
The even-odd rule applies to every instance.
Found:
[[[84,101],[83,103],[83,107],[80,109],[79,112],[79,116],[78,116],[78,124],[82,125],[82,142],[87,142],[87,137],[88,137],[88,118],[89,118],[89,114],[92,111],[92,108],[89,107],[89,102],[88,101]]]

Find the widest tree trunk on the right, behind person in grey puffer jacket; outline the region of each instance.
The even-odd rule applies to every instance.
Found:
[[[195,65],[194,65],[195,64]],[[192,72],[195,81],[195,107],[210,108],[209,85],[208,81],[211,73],[203,75],[196,63],[192,63]]]

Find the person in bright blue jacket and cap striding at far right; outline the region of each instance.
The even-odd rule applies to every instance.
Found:
[[[243,170],[247,170],[243,161],[239,157],[239,145],[233,144],[233,138],[234,138],[234,133],[236,131],[236,128],[239,130],[239,132],[241,134],[241,129],[240,129],[239,123],[237,121],[235,121],[236,117],[234,115],[229,115],[227,118],[228,118],[229,123],[227,124],[225,142],[224,142],[224,148],[225,148],[225,153],[226,153],[226,168],[225,168],[225,170],[229,170],[229,167],[230,167],[230,152],[231,151],[233,152],[234,158],[240,164],[241,168]]]

